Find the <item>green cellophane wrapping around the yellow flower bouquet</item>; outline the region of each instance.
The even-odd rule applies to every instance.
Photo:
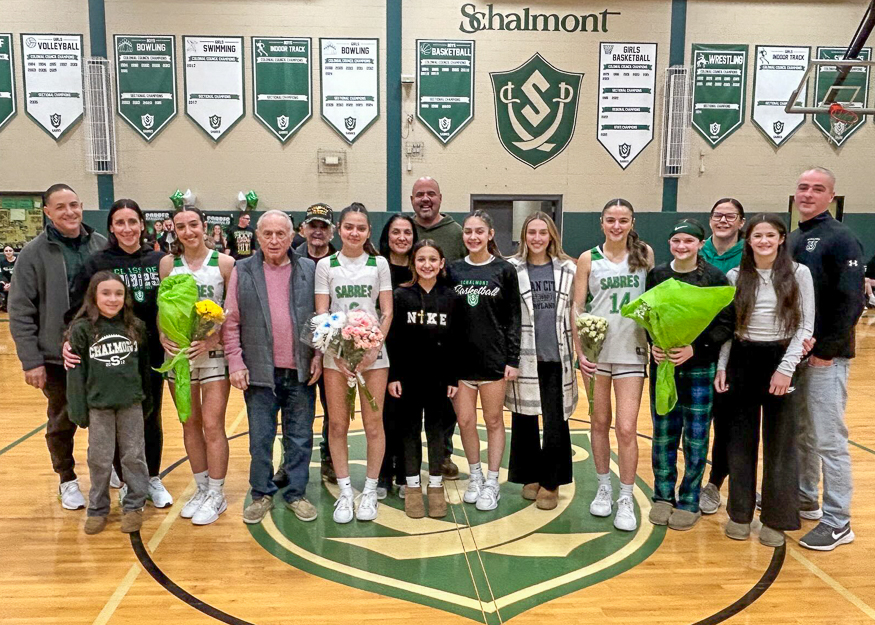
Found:
[[[168,276],[158,287],[158,328],[164,336],[179,345],[179,353],[156,371],[165,373],[173,369],[176,412],[182,423],[191,416],[191,365],[188,362],[188,347],[191,345],[189,337],[194,327],[194,305],[197,301],[197,283],[194,276],[189,274]]]

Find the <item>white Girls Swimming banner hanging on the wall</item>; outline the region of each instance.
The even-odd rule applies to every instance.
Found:
[[[219,141],[243,118],[243,37],[183,36],[185,114]]]

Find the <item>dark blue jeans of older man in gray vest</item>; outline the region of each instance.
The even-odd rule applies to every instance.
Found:
[[[294,501],[304,496],[310,476],[316,393],[314,387],[298,382],[298,372],[294,369],[274,369],[273,377],[273,388],[250,386],[243,392],[249,417],[249,485],[253,499],[277,492],[272,479],[273,442],[276,414],[280,411],[283,470],[289,477],[283,497]]]

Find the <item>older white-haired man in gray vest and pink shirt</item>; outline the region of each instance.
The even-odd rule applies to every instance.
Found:
[[[244,523],[260,523],[273,508],[276,414],[281,411],[286,506],[302,521],[316,518],[304,496],[313,451],[316,380],[322,360],[300,340],[313,315],[316,265],[292,253],[292,222],[271,210],[258,220],[260,249],[231,274],[222,328],[231,384],[243,391],[249,417],[252,503]]]

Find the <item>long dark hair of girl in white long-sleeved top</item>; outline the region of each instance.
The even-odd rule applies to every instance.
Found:
[[[799,309],[802,296],[799,293],[799,284],[796,282],[796,263],[793,262],[787,249],[787,226],[780,217],[771,213],[754,215],[745,226],[744,252],[741,255],[738,280],[735,284],[735,332],[739,336],[744,332],[756,305],[760,275],[757,272],[750,240],[754,228],[759,224],[772,226],[784,239],[778,246],[778,255],[775,257],[775,264],[772,265],[772,284],[778,300],[775,305],[775,317],[784,336],[788,336],[796,332],[799,324],[802,323],[802,312]]]

